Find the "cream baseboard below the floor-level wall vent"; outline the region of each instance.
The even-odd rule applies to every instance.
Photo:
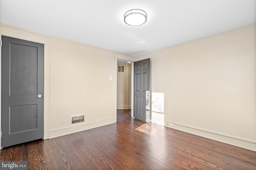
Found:
[[[54,138],[54,137],[60,137],[60,136],[63,136],[63,135],[68,135],[68,134],[71,134],[71,133],[85,131],[85,130],[92,129],[92,128],[95,128],[95,127],[109,125],[109,124],[112,124],[112,123],[116,123],[115,118],[102,120],[102,121],[97,121],[97,122],[88,123],[88,124],[82,124],[82,125],[79,125],[79,126],[70,126],[70,127],[66,127],[66,128],[63,128],[63,129],[56,129],[56,130],[53,129],[53,130],[50,130],[50,132],[49,132],[49,139]]]

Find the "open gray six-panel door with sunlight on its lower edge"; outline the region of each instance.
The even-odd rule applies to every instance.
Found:
[[[134,63],[134,114],[137,119],[150,121],[150,59]]]

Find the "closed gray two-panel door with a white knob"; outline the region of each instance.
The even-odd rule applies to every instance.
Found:
[[[2,36],[1,147],[42,139],[44,45]]]

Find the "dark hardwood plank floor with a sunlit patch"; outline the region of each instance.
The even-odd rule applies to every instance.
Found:
[[[256,152],[145,123],[118,110],[118,121],[62,137],[4,148],[1,160],[29,170],[255,170]]]

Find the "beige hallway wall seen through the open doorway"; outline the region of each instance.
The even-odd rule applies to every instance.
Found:
[[[125,72],[117,72],[117,109],[131,109],[131,64],[124,65]]]

